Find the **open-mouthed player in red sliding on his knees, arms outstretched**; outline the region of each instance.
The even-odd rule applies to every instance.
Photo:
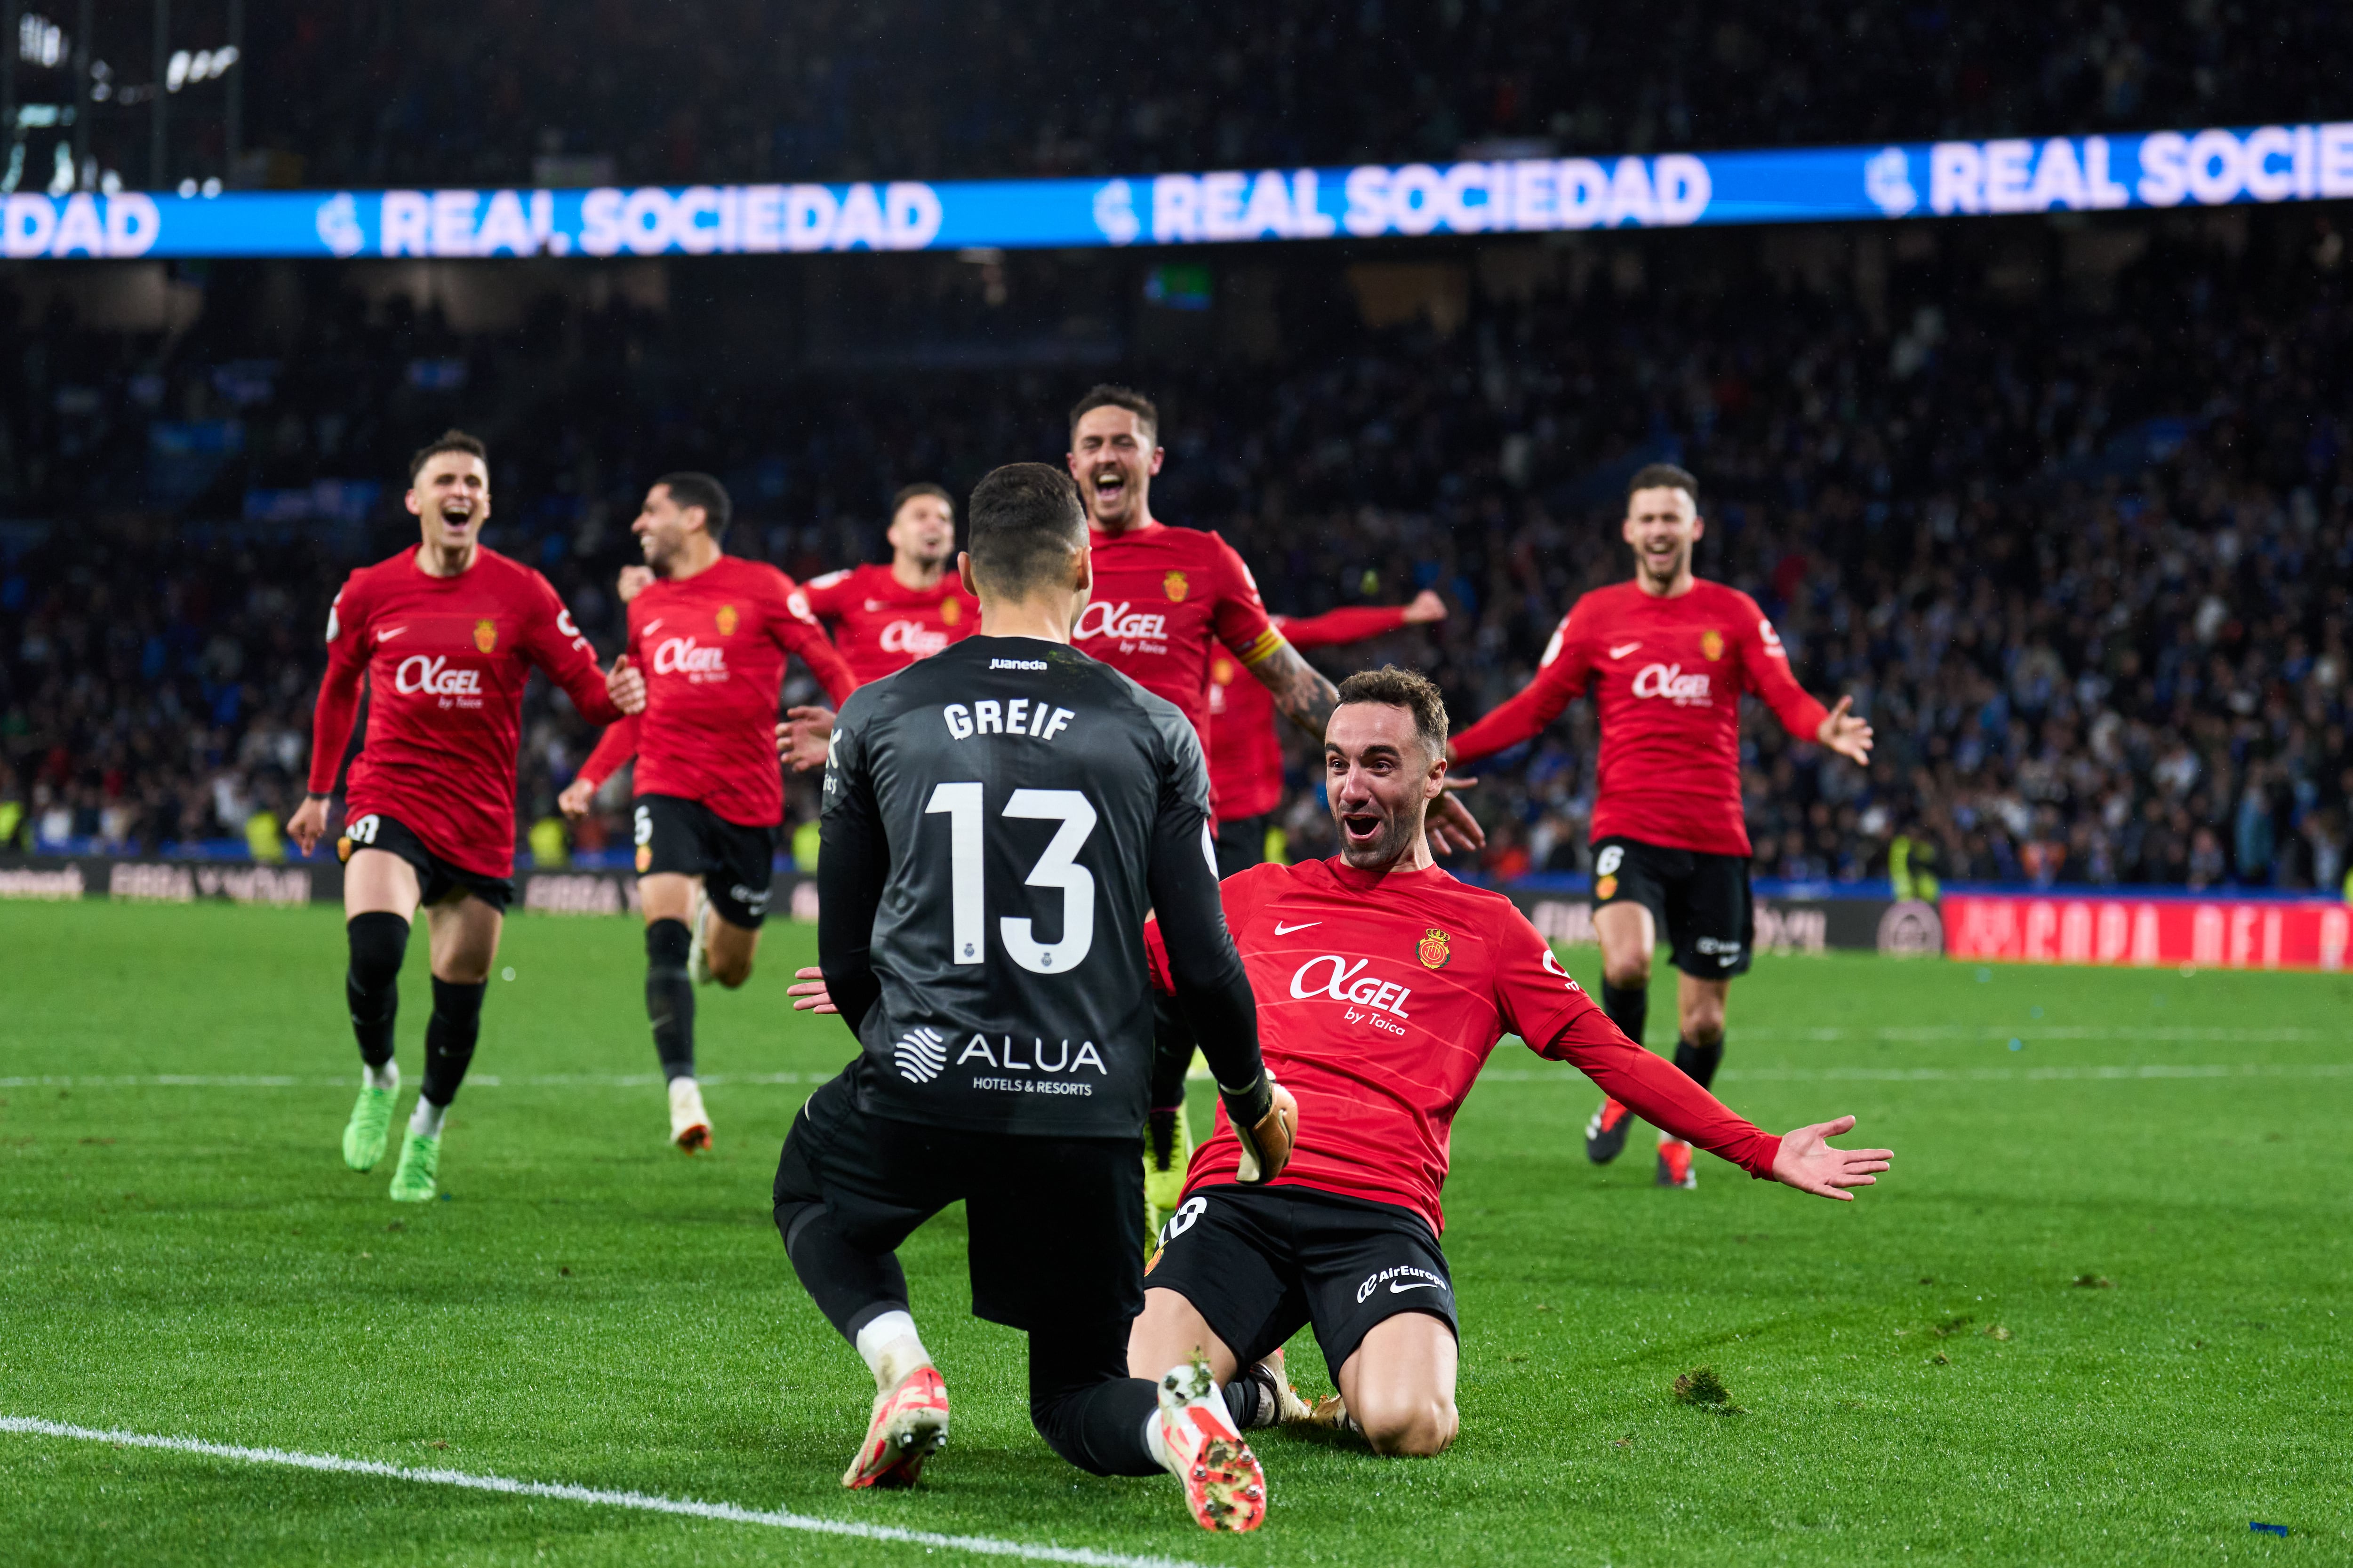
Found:
[[[1852,1117],[1781,1138],[1626,1039],[1501,893],[1438,870],[1421,816],[1445,780],[1438,686],[1369,670],[1339,686],[1325,790],[1341,853],[1259,865],[1221,886],[1249,966],[1266,1063],[1299,1098],[1280,1175],[1235,1180],[1224,1119],[1193,1157],[1184,1201],[1146,1274],[1129,1366],[1200,1345],[1238,1425],[1289,1394],[1261,1359],[1315,1326],[1341,1410],[1379,1453],[1454,1439],[1454,1284],[1438,1237],[1454,1112],[1508,1030],[1572,1063],[1624,1105],[1751,1175],[1847,1199],[1887,1150],[1833,1150]],[[1158,966],[1160,933],[1146,926]],[[1155,969],[1158,976],[1158,969]],[[1254,1368],[1235,1380],[1240,1368]]]

